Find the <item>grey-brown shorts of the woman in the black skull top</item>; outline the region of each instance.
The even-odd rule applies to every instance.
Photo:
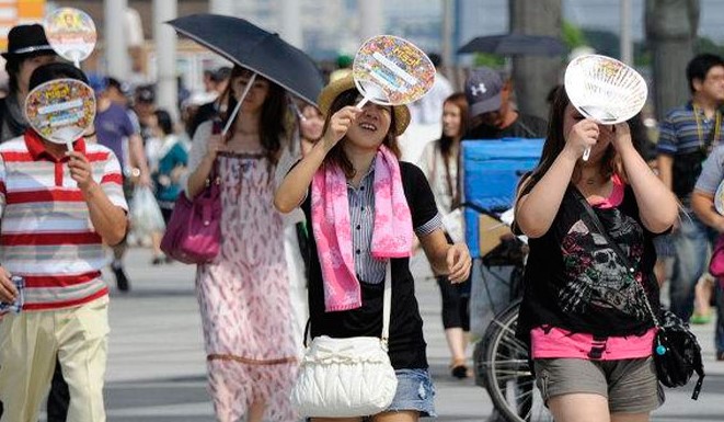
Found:
[[[651,412],[664,403],[653,357],[588,361],[536,360],[536,385],[543,400],[568,394],[597,394],[611,413]]]

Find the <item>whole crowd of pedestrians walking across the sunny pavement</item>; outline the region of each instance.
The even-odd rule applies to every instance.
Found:
[[[218,258],[198,265],[195,285],[217,419],[297,420],[289,392],[307,324],[311,338],[379,335],[386,278],[398,390],[374,420],[434,417],[410,256],[420,247],[430,263],[449,375],[467,378],[480,269],[471,271],[462,236],[463,139],[545,138],[516,198],[515,229],[530,239],[517,334],[556,421],[646,421],[664,402],[641,292],[654,305],[666,298],[693,323],[705,322],[714,304],[716,360],[724,361],[724,285],[706,272],[724,232],[714,207],[724,180],[719,56],[689,62],[691,100],[666,115],[655,139],[658,176],[651,157],[642,158],[652,140],[640,117],[596,124],[559,87],[540,113],[549,124],[519,112],[513,80],[491,68],[471,70],[460,92],[438,68],[438,83],[420,102],[358,109],[363,96],[342,66],[348,62],[315,105],[243,67],[221,67],[204,76],[208,95],[180,104],[174,122],[175,113],[154,105],[153,85],[89,79],[58,62],[41,25],[12,28],[2,56],[0,300],[19,295],[13,275],[25,278],[23,311],[0,316],[2,422],[34,422],[48,391],[49,421],[105,420],[108,287],[101,271],[110,265],[126,293],[130,244],[151,247],[149,265],[171,263],[161,239],[174,204],[209,183],[220,186],[223,237]],[[432,58],[439,67],[439,56]],[[93,126],[70,152],[23,114],[33,88],[62,78],[91,85],[96,101]],[[410,125],[437,130],[415,164],[401,160]],[[139,207],[157,210],[159,224],[129,224]],[[619,248],[631,265],[610,253]]]

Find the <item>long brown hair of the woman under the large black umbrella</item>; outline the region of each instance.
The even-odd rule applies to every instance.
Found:
[[[223,124],[229,119],[229,115],[237,107],[237,99],[234,99],[231,89],[232,80],[237,77],[249,76],[251,77],[252,71],[244,69],[240,66],[234,66],[231,70],[231,77],[229,78],[229,84],[221,95],[227,95],[229,103],[227,104],[226,112],[221,113],[221,119]],[[287,129],[285,127],[285,122],[287,121],[287,93],[278,84],[269,81],[268,79],[257,75],[256,79],[265,80],[269,83],[269,91],[262,105],[262,115],[258,121],[258,136],[262,141],[262,147],[266,153],[266,158],[275,163],[279,159],[279,151],[281,150],[281,138],[286,138]],[[240,112],[241,113],[241,112]],[[239,114],[234,117],[233,125],[237,123]],[[231,136],[231,130],[229,132],[229,137]]]

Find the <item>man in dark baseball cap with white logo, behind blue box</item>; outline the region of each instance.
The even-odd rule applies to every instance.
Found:
[[[513,104],[513,80],[503,81],[491,68],[480,67],[466,80],[470,104],[468,133],[463,139],[543,138],[548,124],[524,114]]]

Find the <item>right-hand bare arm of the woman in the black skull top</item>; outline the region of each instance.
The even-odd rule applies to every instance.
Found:
[[[639,204],[641,221],[648,231],[658,233],[674,225],[678,215],[676,196],[651,170],[631,141],[629,125],[614,126],[613,146]]]

